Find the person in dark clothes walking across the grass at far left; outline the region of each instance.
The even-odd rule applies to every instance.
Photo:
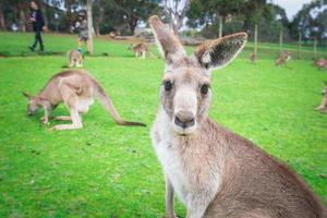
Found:
[[[43,12],[38,9],[38,5],[36,4],[35,1],[31,1],[29,21],[32,22],[33,31],[35,32],[35,41],[33,46],[29,46],[28,48],[31,51],[34,51],[37,44],[39,44],[39,50],[44,51],[45,47],[41,38],[41,32],[45,27],[45,21],[44,21]]]

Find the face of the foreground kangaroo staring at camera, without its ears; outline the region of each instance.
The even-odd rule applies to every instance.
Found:
[[[210,78],[202,68],[192,64],[167,70],[160,87],[160,101],[172,129],[181,135],[193,133],[211,99]]]

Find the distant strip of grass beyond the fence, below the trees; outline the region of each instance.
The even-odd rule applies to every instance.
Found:
[[[0,45],[0,57],[14,57],[14,56],[23,56],[23,57],[31,57],[36,56],[35,52],[31,52],[27,49],[33,43],[34,35],[32,33],[25,34],[15,34],[10,32],[2,32],[0,33],[1,41],[4,41]],[[64,55],[71,48],[76,47],[76,35],[51,35],[51,34],[44,34],[44,41],[46,46],[46,52],[44,56],[48,55]],[[137,41],[137,39],[136,39]],[[95,40],[95,53],[94,56],[102,56],[104,53],[109,53],[110,57],[133,57],[131,51],[128,51],[126,48],[129,47],[130,41],[120,41],[110,39],[107,36],[101,36]],[[249,56],[250,52],[253,51],[254,44],[247,43],[243,53],[241,57],[245,58]],[[299,58],[298,53],[298,45],[295,44],[284,44],[283,49],[291,51],[293,58]],[[153,46],[152,50],[155,55],[157,55],[157,49]],[[189,48],[187,51],[193,51],[193,48]],[[277,57],[279,53],[279,45],[277,44],[268,44],[262,43],[258,45],[258,56],[261,59],[271,59]],[[327,58],[327,48],[318,47],[316,58],[326,57]],[[302,53],[301,59],[304,60],[312,60],[314,57],[313,47],[312,45],[302,46]]]

